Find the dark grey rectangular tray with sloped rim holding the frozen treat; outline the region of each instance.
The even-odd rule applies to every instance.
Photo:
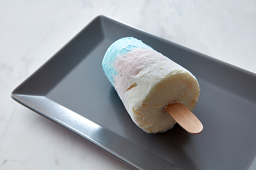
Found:
[[[126,112],[101,61],[115,40],[133,36],[190,70],[200,84],[193,113],[204,130],[179,125],[147,134]],[[256,75],[99,16],[12,98],[138,169],[255,169]]]

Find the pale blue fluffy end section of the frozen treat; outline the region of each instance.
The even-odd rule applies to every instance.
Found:
[[[108,77],[113,87],[115,87],[114,77],[117,75],[117,71],[114,68],[114,61],[116,60],[116,57],[129,53],[136,48],[153,49],[152,47],[144,44],[141,40],[133,37],[124,37],[111,44],[106,51],[102,60],[102,67],[106,77]]]

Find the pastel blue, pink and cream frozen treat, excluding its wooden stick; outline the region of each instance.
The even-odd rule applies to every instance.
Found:
[[[192,111],[198,103],[195,76],[136,38],[115,41],[102,67],[134,123],[147,133],[165,132],[176,124],[164,109],[168,104],[181,103]]]

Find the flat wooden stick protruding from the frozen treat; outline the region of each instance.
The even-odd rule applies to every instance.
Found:
[[[202,132],[203,125],[200,120],[182,104],[170,104],[165,108],[165,110],[188,133],[199,134]]]

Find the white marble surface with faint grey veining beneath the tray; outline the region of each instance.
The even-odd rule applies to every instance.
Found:
[[[256,73],[255,9],[254,0],[0,1],[0,169],[132,169],[10,97],[96,16]]]

